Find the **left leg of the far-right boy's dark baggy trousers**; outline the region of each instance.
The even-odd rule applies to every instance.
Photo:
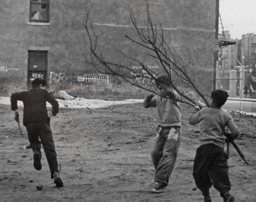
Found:
[[[212,186],[212,181],[209,176],[209,166],[212,160],[211,157],[212,144],[202,145],[197,148],[193,165],[193,177],[198,189],[202,191],[203,196],[209,195],[209,189]]]

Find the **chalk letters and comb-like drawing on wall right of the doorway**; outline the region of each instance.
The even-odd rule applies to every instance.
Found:
[[[72,78],[75,78],[72,79]],[[65,73],[54,73],[51,71],[49,76],[49,83],[109,83],[109,75],[107,74],[83,74],[80,75],[72,75]]]

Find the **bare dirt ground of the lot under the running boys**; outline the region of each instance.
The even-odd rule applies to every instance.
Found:
[[[198,126],[190,126],[191,108],[183,112],[182,141],[168,189],[152,194],[154,167],[150,151],[157,122],[154,109],[141,103],[104,109],[62,108],[51,117],[51,128],[61,164],[63,188],[50,178],[44,152],[42,170],[33,167],[25,127],[13,120],[9,105],[0,105],[0,201],[202,201],[193,181],[193,158],[198,147]],[[22,118],[22,107],[19,107]],[[49,109],[50,112],[50,109]],[[236,201],[256,201],[256,119],[233,116],[242,135],[237,145],[246,165],[230,147],[229,177]],[[37,191],[36,186],[43,186]],[[222,201],[212,187],[214,202]]]

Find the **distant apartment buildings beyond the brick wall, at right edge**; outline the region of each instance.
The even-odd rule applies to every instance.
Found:
[[[219,35],[219,39],[224,38],[233,41],[228,31]],[[243,86],[252,85],[253,90],[256,90],[256,35],[247,33],[242,35],[241,39],[235,41],[235,45],[220,47],[219,71],[217,71],[218,85],[222,86],[224,90],[231,90],[232,97],[241,96],[240,88],[242,88],[242,85],[240,81],[242,73]]]

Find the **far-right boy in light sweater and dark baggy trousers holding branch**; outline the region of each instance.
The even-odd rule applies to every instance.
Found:
[[[205,107],[193,114],[189,123],[192,125],[202,122],[200,128],[200,145],[197,148],[193,165],[193,177],[198,189],[202,191],[204,202],[211,202],[209,189],[213,186],[219,191],[224,202],[233,202],[235,197],[229,194],[231,183],[228,176],[228,161],[224,152],[224,129],[228,126],[231,134],[228,141],[235,140],[239,129],[230,114],[221,110],[228,93],[224,90],[215,90],[211,94],[211,107]]]

